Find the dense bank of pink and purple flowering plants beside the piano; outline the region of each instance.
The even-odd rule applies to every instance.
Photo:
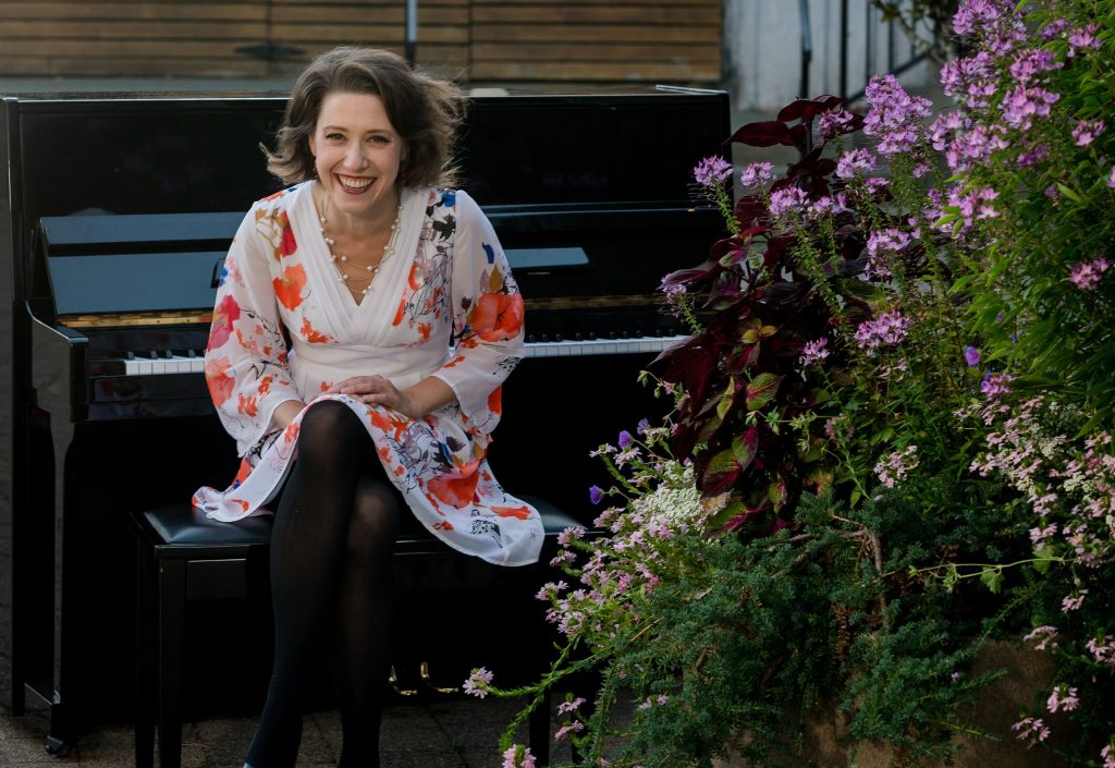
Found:
[[[695,169],[726,231],[663,278],[694,329],[659,361],[676,410],[598,451],[590,499],[619,503],[563,535],[539,597],[564,644],[514,691],[599,671],[561,705],[581,765],[808,762],[823,701],[896,766],[948,758],[999,637],[1057,669],[991,736],[1048,747],[1064,713],[1059,759],[1115,768],[1115,0],[962,0],[954,28],[956,108],[874,78],[863,115],[737,131],[799,152],[738,200]]]

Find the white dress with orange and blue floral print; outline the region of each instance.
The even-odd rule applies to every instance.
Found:
[[[338,400],[360,416],[387,476],[435,536],[489,563],[534,563],[539,513],[503,490],[486,459],[501,385],[522,355],[522,296],[466,193],[407,189],[401,203],[395,255],[359,304],[329,261],[312,182],[249,211],[225,259],[205,354],[241,469],[229,489],[201,488],[193,502],[219,520],[260,513],[293,463],[302,416],[280,430],[275,407]],[[400,390],[437,376],[456,402],[413,420],[322,394],[371,374]]]

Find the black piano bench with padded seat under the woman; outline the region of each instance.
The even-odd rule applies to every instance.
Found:
[[[558,550],[558,535],[571,526],[583,526],[544,499],[520,498],[539,510],[545,529],[539,565],[527,566],[537,576],[537,584],[523,584],[521,576],[515,579],[521,586],[536,589],[546,578],[539,569],[547,567]],[[154,765],[157,729],[161,768],[180,768],[180,685],[186,605],[265,594],[263,591],[269,588],[268,553],[272,516],[245,518],[235,524],[220,522],[206,518],[204,512],[190,505],[174,505],[136,512],[132,521],[138,545],[135,765],[137,768],[152,768]],[[396,588],[408,592],[460,589],[463,577],[473,586],[484,588],[485,583],[496,578],[496,572],[516,570],[522,574],[524,570],[500,568],[457,553],[417,525],[400,530],[396,539],[394,568]],[[533,595],[533,592],[530,594]],[[524,614],[537,611],[533,605],[524,608]],[[266,622],[269,616],[261,616],[260,621]],[[537,624],[539,642],[546,643],[545,627],[542,622]],[[443,628],[459,632],[459,626]],[[520,632],[522,634],[521,627]],[[544,655],[541,651],[545,647],[549,645],[540,645],[539,656]],[[529,723],[532,752],[540,765],[549,761],[547,704],[545,701],[535,709]],[[244,747],[246,749],[246,745]]]

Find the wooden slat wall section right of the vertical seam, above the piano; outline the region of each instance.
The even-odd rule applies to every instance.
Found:
[[[472,7],[474,79],[720,79],[720,0],[472,0]]]

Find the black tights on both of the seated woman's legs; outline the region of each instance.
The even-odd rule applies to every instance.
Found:
[[[271,540],[275,655],[248,750],[252,768],[290,768],[302,737],[322,627],[338,661],[341,768],[379,765],[379,719],[394,622],[391,553],[400,498],[360,419],[336,401],[303,416],[298,461]]]

